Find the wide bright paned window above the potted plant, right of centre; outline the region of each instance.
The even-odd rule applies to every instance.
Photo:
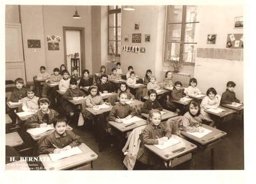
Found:
[[[167,6],[166,21],[164,60],[180,57],[184,62],[194,65],[197,44],[194,36],[199,23],[197,6]]]

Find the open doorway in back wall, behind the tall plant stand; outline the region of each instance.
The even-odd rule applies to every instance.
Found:
[[[84,28],[65,27],[63,26],[63,41],[64,41],[64,64],[67,70],[72,75],[71,54],[79,53],[78,73],[81,75],[85,67],[85,37]],[[78,62],[78,60],[77,60]]]

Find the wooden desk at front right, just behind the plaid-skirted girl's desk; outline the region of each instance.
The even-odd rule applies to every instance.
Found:
[[[211,151],[211,169],[214,169],[214,148],[220,144],[220,141],[223,140],[227,133],[205,124],[202,124],[201,126],[211,130],[212,132],[202,138],[195,137],[194,135],[188,134],[185,131],[181,131],[181,134],[188,138],[190,141],[197,144],[197,146],[200,147],[203,151]]]

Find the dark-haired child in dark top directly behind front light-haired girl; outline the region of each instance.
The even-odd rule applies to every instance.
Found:
[[[163,107],[161,107],[160,103],[157,101],[157,91],[156,90],[149,90],[147,92],[149,95],[149,99],[145,101],[142,107],[142,113],[149,114],[152,109],[157,109],[159,111],[163,111]]]

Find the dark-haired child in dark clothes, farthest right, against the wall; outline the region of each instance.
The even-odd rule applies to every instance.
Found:
[[[239,99],[237,99],[237,97],[235,97],[234,87],[235,83],[233,81],[227,82],[227,89],[221,96],[220,104],[242,104],[242,102]]]

